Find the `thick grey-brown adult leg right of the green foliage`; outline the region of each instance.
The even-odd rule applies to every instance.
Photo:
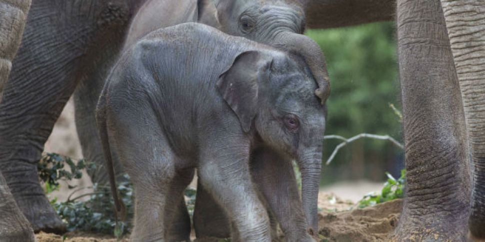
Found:
[[[398,0],[407,171],[394,239],[464,241],[469,167],[464,114],[438,0]]]

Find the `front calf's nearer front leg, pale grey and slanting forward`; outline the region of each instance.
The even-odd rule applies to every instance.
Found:
[[[237,143],[231,147],[241,147]],[[223,147],[223,152],[211,150],[202,155],[198,167],[200,182],[233,222],[233,241],[270,242],[267,212],[250,179],[249,152],[237,148],[228,151],[231,149],[227,149],[227,144]],[[241,153],[244,155],[232,155]]]

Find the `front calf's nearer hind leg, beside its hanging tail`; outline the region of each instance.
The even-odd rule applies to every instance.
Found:
[[[143,106],[144,103],[137,104]],[[124,105],[123,109],[117,108],[121,105]],[[174,216],[180,213],[182,192],[190,182],[192,173],[177,174],[175,164],[181,161],[171,150],[151,109],[128,106],[113,97],[106,110],[110,148],[106,152],[118,155],[134,187],[135,213],[131,240],[175,241],[171,237],[186,240],[186,224],[182,223],[185,234],[181,236],[180,231],[173,233],[170,226]],[[139,117],[143,117],[142,123],[139,123]],[[179,214],[179,217],[186,221],[185,214]]]

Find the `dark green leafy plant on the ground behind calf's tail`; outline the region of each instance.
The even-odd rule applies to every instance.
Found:
[[[65,164],[70,171],[65,170]],[[95,164],[79,160],[75,164],[72,159],[55,153],[48,153],[40,160],[38,166],[40,180],[45,183],[45,192],[50,193],[59,187],[59,180],[80,179],[83,169],[95,169]],[[67,201],[59,202],[56,198],[50,201],[56,213],[66,224],[68,231],[86,231],[103,234],[111,234],[119,238],[131,231],[133,218],[133,187],[129,182],[129,176],[121,175],[117,179],[117,190],[123,201],[126,211],[126,221],[118,221],[114,218],[114,201],[111,190],[107,184],[94,184],[91,193],[82,194],[71,198],[80,189],[68,186],[73,192]],[[82,189],[82,188],[81,188]],[[190,217],[193,214],[196,191],[187,188],[184,192],[186,205]],[[87,200],[83,200],[87,197]]]

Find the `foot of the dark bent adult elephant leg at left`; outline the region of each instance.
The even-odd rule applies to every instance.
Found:
[[[65,224],[59,219],[45,196],[33,196],[16,199],[16,201],[35,233],[43,231],[61,235],[66,232]]]

